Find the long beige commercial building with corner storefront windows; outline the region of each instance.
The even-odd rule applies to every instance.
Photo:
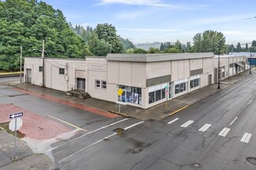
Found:
[[[96,99],[147,109],[213,84],[216,68],[212,52],[109,54],[83,60],[44,58],[44,62],[42,58],[26,57],[24,79],[63,92],[81,89]],[[222,79],[245,69],[245,56],[221,57]],[[118,89],[123,91],[121,96]]]

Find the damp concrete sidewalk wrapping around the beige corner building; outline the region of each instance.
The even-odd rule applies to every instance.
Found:
[[[221,81],[221,89],[232,85],[236,81],[242,80],[243,78],[249,76],[249,71],[245,71],[241,74],[227,78],[224,81]],[[97,110],[106,110],[110,111],[113,114],[121,114],[124,116],[138,118],[143,121],[154,120],[159,121],[163,118],[167,118],[169,115],[176,113],[179,110],[182,110],[193,103],[197,103],[201,99],[206,98],[207,96],[213,95],[215,92],[218,92],[220,89],[217,89],[217,84],[206,86],[205,88],[195,90],[193,92],[187,93],[183,96],[171,99],[168,101],[168,107],[166,109],[165,103],[158,104],[155,107],[150,107],[147,110],[132,107],[128,105],[121,105],[121,113],[118,113],[118,104],[107,102],[101,99],[80,99],[73,96],[67,96],[65,92],[60,92],[54,89],[41,88],[37,85],[32,85],[29,83],[15,83],[9,84],[17,87],[19,89],[24,89],[28,92],[34,92],[39,96],[50,96],[53,99],[61,99],[65,102],[83,105],[85,107],[96,108]],[[96,113],[97,114],[97,113]]]

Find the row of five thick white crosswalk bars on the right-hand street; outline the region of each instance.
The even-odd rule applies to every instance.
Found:
[[[173,119],[173,121],[169,121],[168,124],[172,124],[174,123],[175,121],[178,121],[180,118],[175,118]],[[192,120],[189,120],[189,121],[186,121],[184,124],[180,125],[181,128],[187,128],[188,126],[192,125],[195,121],[192,121]],[[201,128],[198,129],[198,131],[200,132],[206,132],[208,128],[210,128],[212,125],[211,124],[205,124],[203,125]],[[218,133],[218,136],[222,136],[222,137],[225,137],[228,135],[228,132],[230,132],[231,128],[227,128],[227,127],[224,127],[221,129],[221,132]],[[252,137],[252,134],[249,133],[249,132],[245,132],[243,134],[243,137],[242,139],[240,139],[240,142],[242,143],[249,143],[250,142],[250,139]]]

